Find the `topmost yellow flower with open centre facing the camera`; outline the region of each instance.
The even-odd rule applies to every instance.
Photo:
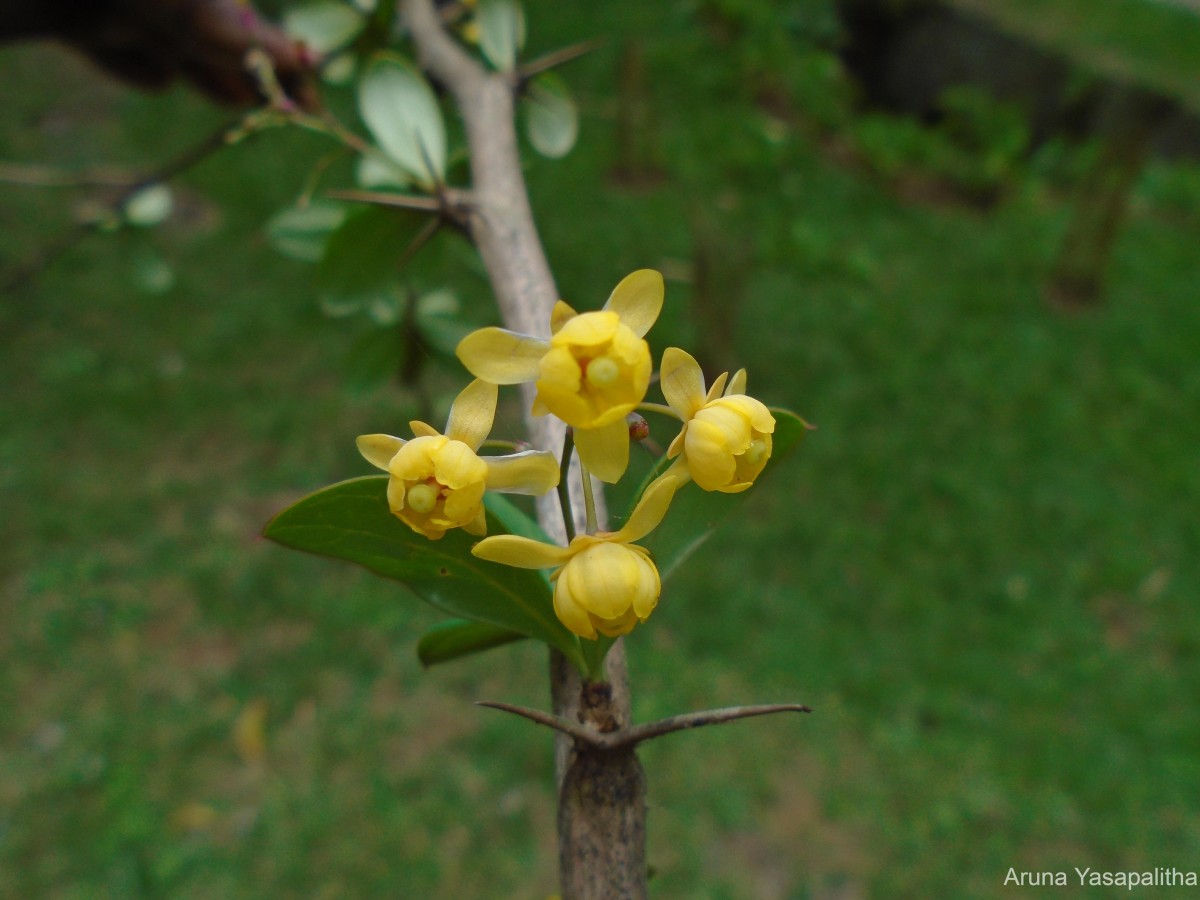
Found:
[[[559,301],[548,340],[485,328],[467,335],[457,354],[476,378],[535,382],[534,414],[553,413],[570,425],[583,466],[612,484],[629,464],[625,416],[650,384],[654,364],[643,338],[661,310],[662,276],[640,269],[600,311],[577,313]]]

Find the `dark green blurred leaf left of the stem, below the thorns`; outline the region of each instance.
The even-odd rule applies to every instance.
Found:
[[[349,314],[379,299],[390,301],[396,262],[428,217],[400,208],[368,206],[329,236],[317,270],[322,307]]]

